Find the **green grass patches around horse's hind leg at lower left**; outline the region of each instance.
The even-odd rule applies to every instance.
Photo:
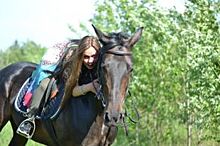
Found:
[[[0,132],[0,146],[7,146],[11,138],[12,138],[12,128],[10,123],[7,123],[6,126]],[[28,140],[26,146],[43,146],[43,145],[36,143],[33,140]]]

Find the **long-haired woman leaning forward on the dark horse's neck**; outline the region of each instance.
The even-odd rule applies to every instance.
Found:
[[[93,36],[85,36],[80,40],[78,47],[73,49],[71,53],[68,49],[71,48],[70,46],[69,43],[56,45],[55,50],[51,51],[52,53],[50,53],[51,49],[49,49],[44,55],[41,64],[33,73],[34,75],[32,75],[34,78],[33,80],[35,81],[32,82],[32,85],[35,84],[34,86],[42,86],[41,84],[44,84],[45,86],[45,82],[46,84],[49,82],[47,77],[57,70],[60,66],[59,64],[65,66],[62,74],[66,83],[61,107],[63,107],[67,99],[70,97],[80,97],[85,94],[90,94],[95,97],[96,89],[99,86],[96,73],[100,49],[99,41]],[[69,56],[69,54],[65,52],[68,52],[71,55]],[[48,71],[50,74],[48,74]],[[42,87],[38,88],[42,89]],[[33,90],[33,88],[31,88],[31,90]],[[41,98],[39,99],[39,94],[37,94],[37,92],[38,89],[32,92],[27,92],[25,97],[26,99],[28,97],[28,102],[25,101],[24,105],[28,106],[29,119],[24,120],[17,129],[17,133],[26,138],[31,138],[34,133],[34,119],[41,102]],[[33,95],[30,94],[28,96],[28,93],[33,93]]]

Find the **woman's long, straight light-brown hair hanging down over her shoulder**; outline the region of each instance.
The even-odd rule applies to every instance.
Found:
[[[65,62],[66,67],[64,72],[66,72],[66,83],[64,97],[61,101],[61,108],[64,106],[65,102],[71,97],[73,88],[77,85],[79,75],[82,68],[83,57],[85,50],[93,47],[99,52],[100,43],[98,39],[94,36],[85,36],[80,40],[79,46],[72,50],[72,55]]]

